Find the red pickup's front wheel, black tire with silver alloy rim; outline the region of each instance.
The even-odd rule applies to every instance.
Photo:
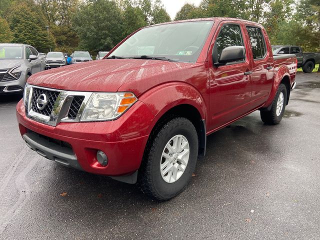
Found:
[[[155,130],[144,152],[138,180],[141,189],[157,200],[179,194],[195,168],[198,137],[186,118],[175,117]]]

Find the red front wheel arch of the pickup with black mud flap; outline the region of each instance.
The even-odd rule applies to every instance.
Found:
[[[201,94],[191,85],[170,83],[153,88],[139,100],[154,113],[148,132],[152,132],[172,117],[185,117],[194,125],[199,142],[198,156],[204,156],[206,147],[206,106]],[[149,141],[148,139],[148,141]]]

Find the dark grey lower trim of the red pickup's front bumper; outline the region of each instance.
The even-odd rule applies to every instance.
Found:
[[[26,144],[39,155],[64,166],[82,170],[71,148],[47,141],[35,132],[27,132],[22,137]]]

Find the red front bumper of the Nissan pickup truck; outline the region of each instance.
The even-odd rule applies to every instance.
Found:
[[[50,126],[26,117],[22,100],[16,106],[16,115],[23,139],[38,154],[65,166],[108,176],[128,175],[139,168],[147,129],[154,117],[140,101],[113,121]],[[97,162],[98,150],[107,155],[106,166]]]

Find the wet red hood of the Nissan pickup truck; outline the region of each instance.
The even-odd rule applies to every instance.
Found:
[[[144,59],[104,59],[71,64],[33,74],[29,84],[73,91],[132,91],[136,95],[163,81],[176,81],[179,72],[198,63]],[[172,73],[174,72],[174,73]],[[191,71],[197,74],[196,71]],[[185,75],[185,74],[184,74]]]

